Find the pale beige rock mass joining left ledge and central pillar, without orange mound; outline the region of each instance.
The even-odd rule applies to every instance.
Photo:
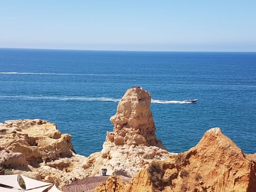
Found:
[[[110,175],[133,177],[154,159],[171,154],[156,138],[150,102],[142,88],[127,90],[110,118],[114,132],[107,133],[102,151],[88,158],[74,153],[71,135],[61,134],[55,124],[41,119],[6,121],[0,124],[0,166],[59,188],[70,178],[101,174],[102,168]]]

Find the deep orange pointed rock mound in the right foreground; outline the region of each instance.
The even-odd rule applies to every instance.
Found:
[[[207,131],[197,146],[164,161],[152,162],[129,185],[112,191],[253,192],[255,189],[256,163],[217,127]]]

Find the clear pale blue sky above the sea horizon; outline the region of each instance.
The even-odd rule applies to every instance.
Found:
[[[256,0],[0,0],[0,47],[256,51]]]

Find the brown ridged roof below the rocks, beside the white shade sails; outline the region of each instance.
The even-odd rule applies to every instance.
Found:
[[[95,187],[100,183],[106,181],[110,175],[107,176],[98,176],[98,177],[87,177],[63,188],[63,192],[91,192]],[[131,178],[118,175],[124,182],[128,183]]]

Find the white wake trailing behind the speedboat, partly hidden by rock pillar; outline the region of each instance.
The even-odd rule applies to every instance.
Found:
[[[27,95],[0,95],[4,99],[22,99],[22,100],[59,100],[59,101],[112,101],[119,102],[121,99],[107,97],[51,97],[51,96],[27,96]],[[151,103],[172,104],[189,103],[185,101],[167,101],[151,99]]]

